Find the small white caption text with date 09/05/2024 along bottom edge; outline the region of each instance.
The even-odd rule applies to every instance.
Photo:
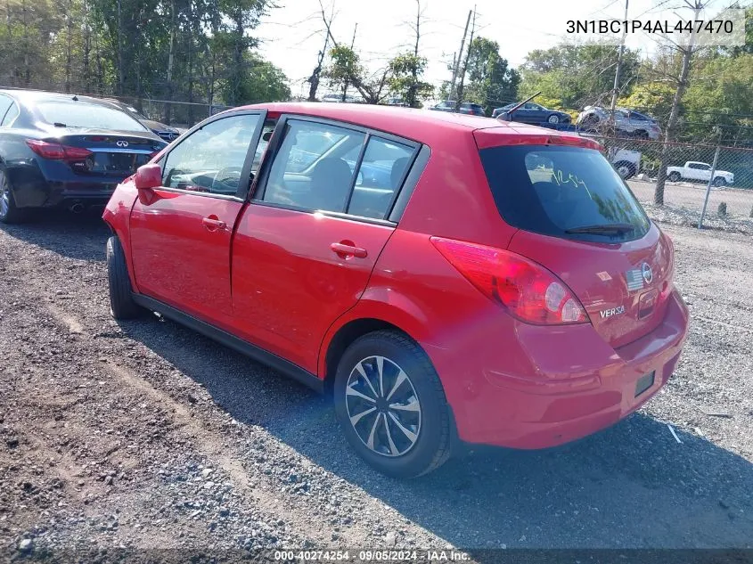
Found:
[[[456,550],[274,551],[274,560],[341,562],[465,562],[468,552]]]

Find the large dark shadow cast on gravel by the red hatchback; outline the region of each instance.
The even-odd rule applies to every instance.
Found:
[[[556,449],[471,449],[428,476],[399,481],[353,454],[326,398],[176,323],[121,327],[201,383],[236,421],[262,426],[455,546],[753,544],[753,464],[679,430],[678,443],[667,424],[643,414]],[[395,530],[401,539],[399,523]]]

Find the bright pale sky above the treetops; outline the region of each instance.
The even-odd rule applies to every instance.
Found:
[[[721,8],[724,0],[718,0]],[[667,8],[683,0],[629,0],[628,18],[655,20],[672,17]],[[323,23],[318,0],[277,0],[281,7],[262,20],[255,31],[261,51],[291,79],[293,94],[302,94],[301,81],[310,76],[316,53],[323,46]],[[405,25],[415,20],[414,0],[323,0],[334,6],[332,32],[338,42],[349,44],[356,32],[356,51],[372,70],[383,67],[391,56],[413,43]],[[568,20],[622,19],[625,0],[421,0],[423,21],[421,52],[429,59],[426,78],[435,84],[449,79],[446,69],[460,47],[469,10],[477,10],[476,34],[495,40],[502,56],[518,66],[533,49],[563,43]],[[729,5],[729,2],[724,2]],[[677,11],[674,10],[676,13]],[[681,12],[682,13],[682,12]],[[650,51],[648,37],[629,37],[627,45]]]

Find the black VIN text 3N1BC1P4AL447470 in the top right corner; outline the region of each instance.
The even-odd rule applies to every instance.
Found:
[[[731,34],[733,20],[568,20],[567,33]]]

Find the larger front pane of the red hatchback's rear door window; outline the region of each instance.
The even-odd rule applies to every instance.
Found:
[[[345,127],[291,119],[274,157],[263,200],[295,208],[344,212],[355,159],[366,135]],[[354,151],[356,149],[356,151]]]

